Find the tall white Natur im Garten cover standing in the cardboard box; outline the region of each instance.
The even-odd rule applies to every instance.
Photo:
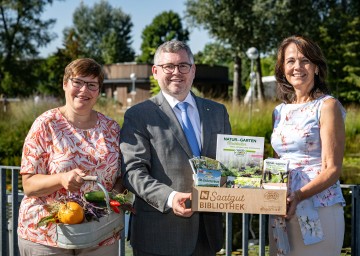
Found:
[[[216,160],[236,177],[236,187],[261,186],[264,143],[264,137],[218,134]]]

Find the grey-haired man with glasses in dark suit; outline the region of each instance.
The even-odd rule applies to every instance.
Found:
[[[192,151],[179,102],[187,114],[202,156],[216,157],[217,134],[231,134],[224,105],[190,92],[194,57],[180,41],[162,44],[152,72],[161,92],[125,113],[121,130],[124,185],[135,194],[130,243],[134,255],[215,255],[223,245],[222,215],[187,207],[193,185]]]

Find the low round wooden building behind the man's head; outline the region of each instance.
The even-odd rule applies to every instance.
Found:
[[[151,97],[150,77],[152,65],[118,63],[104,66],[103,93],[113,98],[122,108],[142,102]],[[208,98],[227,99],[229,85],[228,68],[222,66],[196,65],[193,86]]]

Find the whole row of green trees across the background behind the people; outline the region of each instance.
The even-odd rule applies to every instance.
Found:
[[[279,42],[284,37],[301,34],[311,37],[323,49],[334,95],[344,104],[360,103],[358,0],[304,0],[301,5],[298,1],[283,0],[184,0],[183,17],[173,11],[162,12],[145,27],[139,56],[131,48],[131,16],[121,8],[114,8],[107,1],[98,1],[93,6],[83,1],[73,9],[73,25],[63,35],[55,35],[51,29],[56,20],[41,19],[47,5],[54,1],[2,1],[0,95],[62,96],[56,86],[63,69],[73,59],[86,56],[101,64],[151,63],[159,44],[171,39],[186,42],[191,28],[202,27],[213,43],[196,53],[195,61],[229,68],[229,79],[234,81],[229,94],[233,94],[234,102],[244,97],[248,84],[250,61],[246,50],[249,47],[259,50],[261,60],[258,58],[255,66],[265,76],[272,73],[273,67],[267,60],[273,59]],[[56,36],[63,37],[63,47],[47,58],[40,58],[40,47]]]

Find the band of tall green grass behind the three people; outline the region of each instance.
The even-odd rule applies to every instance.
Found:
[[[219,101],[219,100],[217,100]],[[221,101],[229,112],[232,132],[236,135],[265,138],[265,157],[272,156],[270,136],[272,131],[272,111],[278,104],[268,102],[234,106],[229,101]],[[24,139],[35,118],[44,111],[59,107],[63,102],[54,99],[35,104],[32,99],[12,102],[6,113],[0,109],[0,165],[20,165]],[[2,107],[2,106],[0,106]],[[100,98],[95,106],[97,111],[123,123],[125,110],[113,100]],[[347,107],[346,153],[344,159],[343,183],[360,183],[360,107]]]

